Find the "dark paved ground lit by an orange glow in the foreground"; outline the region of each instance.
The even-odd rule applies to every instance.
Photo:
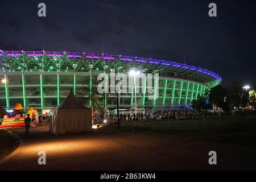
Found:
[[[225,170],[256,169],[256,147],[200,141],[177,135],[95,129],[85,134],[53,135],[48,127],[11,129],[20,145],[0,170]],[[208,152],[217,152],[209,165]],[[46,152],[46,165],[38,152]]]

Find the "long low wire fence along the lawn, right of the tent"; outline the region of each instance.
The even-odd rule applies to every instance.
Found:
[[[120,121],[120,127],[163,129],[177,131],[218,131],[256,128],[256,115],[197,115],[196,118],[151,119],[138,121]]]

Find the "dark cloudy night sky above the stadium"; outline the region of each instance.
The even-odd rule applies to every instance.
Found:
[[[0,49],[151,55],[256,85],[256,1],[0,0]]]

